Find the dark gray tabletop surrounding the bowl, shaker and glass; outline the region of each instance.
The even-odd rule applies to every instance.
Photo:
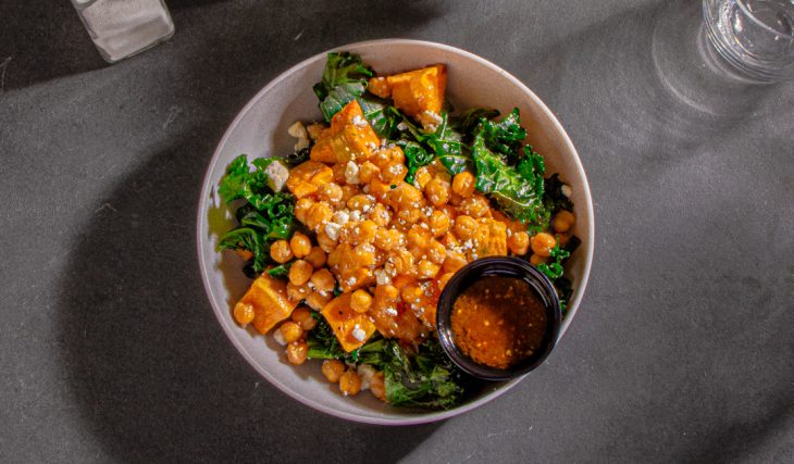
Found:
[[[66,0],[0,5],[0,462],[794,461],[794,86],[699,54],[698,1],[169,1],[101,61]],[[343,422],[261,379],[199,279],[226,126],[322,50],[409,37],[494,61],[558,115],[596,214],[548,362],[463,416]]]

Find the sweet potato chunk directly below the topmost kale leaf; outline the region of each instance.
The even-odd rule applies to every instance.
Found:
[[[372,150],[380,145],[381,140],[364,118],[361,106],[353,100],[334,115],[331,128],[318,139],[310,158],[324,163],[360,162],[372,158]]]

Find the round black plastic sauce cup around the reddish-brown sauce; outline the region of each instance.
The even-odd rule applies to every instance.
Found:
[[[546,309],[546,329],[541,346],[532,355],[506,369],[476,363],[463,354],[455,343],[455,333],[450,323],[452,305],[458,296],[471,287],[474,281],[489,276],[512,277],[525,281],[534,289]],[[516,308],[516,311],[522,310],[525,309]],[[506,380],[524,375],[543,363],[557,342],[561,319],[560,300],[554,286],[542,272],[520,258],[489,256],[472,261],[449,279],[438,300],[436,327],[442,348],[458,367],[485,380]]]

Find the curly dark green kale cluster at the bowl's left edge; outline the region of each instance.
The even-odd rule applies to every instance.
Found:
[[[294,229],[295,198],[269,187],[265,170],[274,161],[257,159],[249,166],[241,154],[229,164],[218,188],[226,203],[247,201],[235,213],[239,226],[221,237],[218,249],[250,251],[253,258],[245,268],[249,277],[262,273],[271,262],[270,243],[289,238]]]

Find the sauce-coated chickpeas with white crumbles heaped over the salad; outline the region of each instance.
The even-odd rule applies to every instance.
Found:
[[[310,310],[322,311],[337,285],[350,293],[350,309],[367,315],[382,336],[421,342],[435,330],[441,290],[467,263],[531,253],[539,264],[569,237],[571,212],[559,212],[553,230],[531,237],[475,190],[470,172],[451,176],[436,161],[407,183],[402,150],[373,139],[374,133],[361,136],[356,149],[342,150],[344,156],[339,150],[327,155],[317,147],[332,128],[310,133],[317,141],[311,160],[295,166],[286,183],[296,197],[295,217],[313,234],[296,233],[270,249],[275,262],[291,261],[287,294],[303,301],[276,334],[291,364],[307,359],[306,334],[317,323]],[[363,129],[371,131],[368,124]],[[383,373],[361,369],[336,360],[322,364],[343,394],[357,394],[363,385],[385,401]]]

